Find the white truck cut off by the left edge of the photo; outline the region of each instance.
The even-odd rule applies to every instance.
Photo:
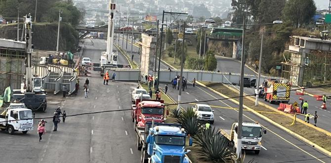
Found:
[[[27,133],[33,130],[32,111],[15,107],[15,105],[11,106],[0,112],[0,129],[6,130],[9,134],[13,134],[14,131]]]

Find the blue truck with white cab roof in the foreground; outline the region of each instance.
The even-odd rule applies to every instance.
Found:
[[[186,132],[181,124],[146,122],[135,130],[141,163],[189,163],[186,154],[190,150],[185,152]]]

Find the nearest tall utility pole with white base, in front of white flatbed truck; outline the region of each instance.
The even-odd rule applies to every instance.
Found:
[[[237,135],[237,157],[241,157],[242,152],[242,131],[243,131],[243,104],[244,104],[244,68],[245,68],[245,16],[243,19],[243,43],[242,43],[242,62],[240,73],[240,92],[239,92],[239,113],[238,113],[238,135]]]

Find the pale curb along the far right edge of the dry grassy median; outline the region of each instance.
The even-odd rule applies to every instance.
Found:
[[[222,84],[223,84],[223,83],[222,83]],[[232,87],[230,87],[230,86],[228,86],[228,85],[226,85],[226,84],[223,84],[223,85],[226,86],[226,87],[228,87],[230,90],[239,93],[238,90],[236,90],[236,89],[234,89],[234,88],[232,88]],[[244,95],[247,95],[247,94],[244,93]],[[252,97],[250,97],[250,96],[247,96],[246,98],[249,99],[249,100],[251,100],[251,101],[255,101],[255,98],[252,98]],[[280,113],[280,114],[282,114],[283,116],[287,116],[287,117],[291,118],[292,120],[294,119],[293,116],[291,116],[291,115],[289,115],[289,114],[286,114],[286,113],[284,113],[284,112],[282,112],[282,111],[279,111],[279,110],[277,110],[276,108],[273,108],[272,106],[270,106],[270,105],[268,105],[268,104],[264,104],[264,103],[262,103],[262,102],[259,102],[259,105],[264,106],[264,107],[266,107],[266,108],[268,108],[268,109],[270,109],[270,110],[272,110],[272,111],[275,111],[275,112],[277,112],[277,113]],[[331,137],[331,132],[329,132],[329,131],[327,131],[327,130],[325,130],[325,129],[322,129],[322,128],[319,128],[319,127],[316,127],[316,126],[312,125],[311,123],[306,123],[306,122],[304,122],[304,121],[301,120],[301,119],[296,119],[296,121],[298,121],[298,122],[300,122],[300,123],[302,123],[302,124],[304,124],[304,125],[306,125],[306,126],[312,127],[312,128],[314,128],[314,129],[316,129],[316,130],[318,130],[318,131],[320,131],[320,132],[323,132],[323,133],[325,133],[326,135],[328,135],[328,136]]]

